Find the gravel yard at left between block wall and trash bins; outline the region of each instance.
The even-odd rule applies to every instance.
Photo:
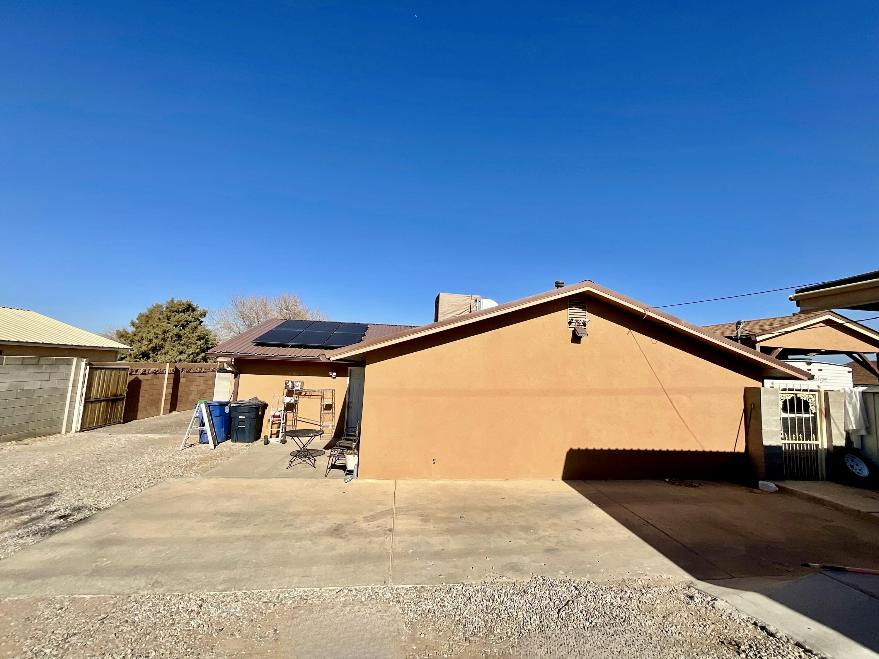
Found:
[[[179,451],[191,415],[0,444],[0,559],[172,476],[203,474],[247,445]]]

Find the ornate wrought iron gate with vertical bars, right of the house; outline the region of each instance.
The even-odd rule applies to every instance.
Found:
[[[824,481],[826,439],[823,392],[782,389],[781,457],[791,481]]]

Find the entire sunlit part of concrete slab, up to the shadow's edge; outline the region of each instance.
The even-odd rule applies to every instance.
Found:
[[[563,482],[202,477],[163,482],[0,562],[0,596],[531,574],[686,577]]]

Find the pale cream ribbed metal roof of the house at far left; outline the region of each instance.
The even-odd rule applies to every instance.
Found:
[[[0,344],[64,345],[71,348],[131,350],[113,339],[92,334],[36,311],[0,307]]]

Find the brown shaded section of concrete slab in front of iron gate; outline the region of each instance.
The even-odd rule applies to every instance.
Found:
[[[879,525],[783,492],[723,482],[589,485],[619,507],[604,510],[699,579],[791,579],[811,574],[804,562],[879,568]],[[630,522],[633,515],[641,522]],[[701,568],[693,554],[712,567]]]

